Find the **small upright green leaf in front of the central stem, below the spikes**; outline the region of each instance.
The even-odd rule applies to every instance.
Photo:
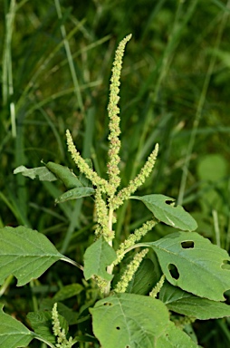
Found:
[[[90,279],[92,275],[99,275],[110,281],[112,275],[106,272],[106,267],[116,259],[117,254],[110,245],[99,238],[95,243],[86,249],[84,254],[84,277]]]

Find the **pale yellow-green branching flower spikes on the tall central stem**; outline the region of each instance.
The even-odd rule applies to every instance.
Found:
[[[126,199],[130,197],[139,187],[145,182],[152,172],[157,156],[158,156],[158,144],[155,149],[149,155],[143,168],[140,170],[136,178],[129,181],[129,185],[126,188],[120,189],[120,109],[118,102],[120,100],[120,73],[122,68],[122,59],[125,51],[125,46],[129,42],[131,34],[126,36],[119,44],[115,53],[115,58],[112,67],[112,73],[110,78],[110,99],[108,105],[109,114],[109,150],[108,150],[108,163],[107,173],[109,179],[102,179],[93,169],[89,167],[85,160],[82,159],[78,150],[76,150],[72,135],[70,131],[66,131],[68,150],[72,154],[72,160],[74,160],[77,167],[80,169],[88,179],[91,180],[95,189],[95,211],[97,226],[95,234],[97,237],[103,237],[112,247],[112,240],[115,237],[115,233],[112,230],[112,224],[114,223],[114,210],[118,209]],[[145,236],[149,230],[156,225],[157,221],[152,219],[143,224],[134,231],[117,250],[117,259],[107,267],[107,272],[111,275],[113,267],[118,265],[122,258],[131,248],[133,248],[136,242],[143,236]],[[127,270],[121,276],[120,282],[116,286],[115,291],[120,293],[124,292],[131,280],[132,276],[139,267],[139,264],[144,256],[148,253],[148,249],[142,250],[136,254],[127,267]],[[110,282],[106,282],[103,279],[95,276],[94,279],[101,288],[101,292],[104,294],[110,293]]]

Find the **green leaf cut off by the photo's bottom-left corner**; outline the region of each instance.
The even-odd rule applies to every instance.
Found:
[[[24,324],[4,313],[3,306],[0,309],[0,323],[1,348],[26,347],[34,338],[34,333]]]

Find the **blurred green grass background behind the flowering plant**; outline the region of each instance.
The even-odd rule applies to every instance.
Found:
[[[68,128],[82,156],[106,177],[111,63],[117,44],[131,33],[120,90],[121,185],[158,142],[156,169],[139,194],[177,198],[196,218],[198,232],[229,251],[229,3],[2,1],[0,226],[33,227],[82,262],[93,240],[91,198],[54,207],[62,185],[14,176],[13,170],[39,167],[41,160],[72,168]],[[147,218],[144,206],[125,204],[118,212],[118,241]],[[170,231],[161,225],[147,238]],[[82,283],[80,272],[62,267],[53,266],[24,289],[10,279],[3,296],[8,313],[26,321],[24,314],[47,295]],[[97,296],[93,285],[84,286],[85,295],[72,303],[82,313]],[[228,319],[194,327],[202,346],[229,347]]]

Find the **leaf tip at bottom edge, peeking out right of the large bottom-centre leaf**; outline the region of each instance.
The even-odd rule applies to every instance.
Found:
[[[155,348],[197,348],[196,343],[180,330],[174,323],[170,322],[166,333],[163,333],[157,341]]]

